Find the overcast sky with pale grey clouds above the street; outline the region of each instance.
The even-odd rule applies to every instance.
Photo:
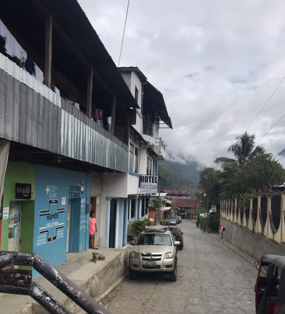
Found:
[[[128,0],[78,2],[118,64]],[[120,66],[139,67],[163,94],[167,151],[207,166],[231,156],[285,75],[284,16],[283,0],[130,0]],[[285,79],[248,132],[258,141],[283,114]],[[260,141],[274,156],[284,130],[285,117]]]

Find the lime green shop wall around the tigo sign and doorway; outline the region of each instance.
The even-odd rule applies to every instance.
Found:
[[[31,183],[34,185],[35,195],[35,182],[36,182],[36,165],[29,164],[21,161],[8,160],[7,170],[4,180],[3,191],[3,207],[10,207],[10,201],[15,199],[16,183]],[[20,250],[22,252],[32,252],[33,250],[33,233],[34,233],[34,196],[31,201],[21,200],[22,215],[21,215],[21,238],[22,243]],[[8,230],[9,219],[2,221],[1,232],[1,250],[8,250]]]

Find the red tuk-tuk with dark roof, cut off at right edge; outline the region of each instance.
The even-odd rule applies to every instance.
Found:
[[[285,256],[263,255],[255,285],[256,314],[285,313],[284,306]]]

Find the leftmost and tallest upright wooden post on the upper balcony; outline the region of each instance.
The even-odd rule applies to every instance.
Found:
[[[45,17],[45,85],[51,87],[52,16]]]

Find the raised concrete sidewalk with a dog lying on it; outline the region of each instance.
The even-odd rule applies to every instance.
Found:
[[[99,248],[98,253],[106,257],[105,261],[92,261],[92,252],[87,250],[82,253],[67,253],[66,261],[56,268],[71,279],[80,288],[85,290],[92,298],[99,300],[105,292],[112,289],[128,272],[128,249]],[[34,282],[40,284],[57,300],[64,304],[70,311],[76,313],[78,306],[60,290],[55,288],[42,276],[35,277]],[[47,313],[31,297],[25,295],[5,294],[0,297],[1,314],[32,314]]]

